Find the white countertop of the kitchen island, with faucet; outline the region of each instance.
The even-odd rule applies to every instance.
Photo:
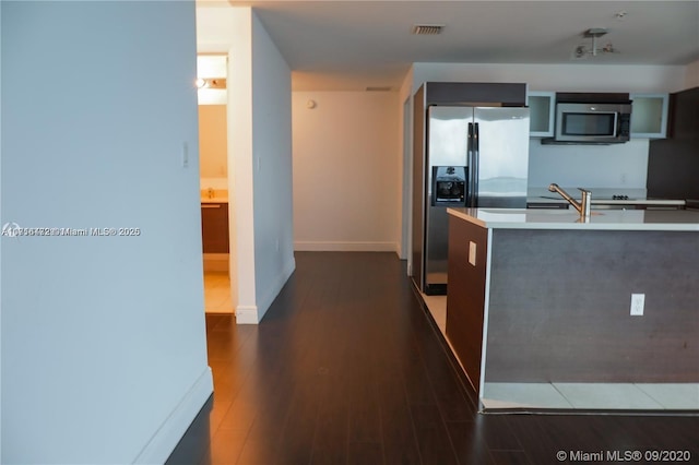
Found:
[[[589,222],[578,212],[535,208],[447,208],[450,215],[488,229],[581,229],[699,231],[699,211],[595,211]]]

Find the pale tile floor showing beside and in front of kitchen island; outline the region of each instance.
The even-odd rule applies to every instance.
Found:
[[[423,295],[447,338],[447,297]],[[449,339],[447,339],[449,341]],[[699,383],[485,383],[484,410],[699,410]]]

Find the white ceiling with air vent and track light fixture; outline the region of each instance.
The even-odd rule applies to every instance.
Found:
[[[699,0],[237,1],[252,5],[293,70],[296,91],[400,87],[413,62],[688,64],[699,60]],[[623,13],[623,17],[618,17]],[[416,36],[414,24],[443,24]],[[576,59],[582,33],[602,47]]]

